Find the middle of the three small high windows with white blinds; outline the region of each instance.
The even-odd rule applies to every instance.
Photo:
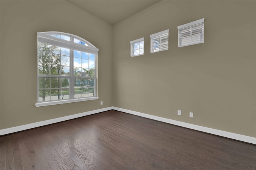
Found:
[[[150,35],[150,52],[168,50],[169,48],[169,29]]]

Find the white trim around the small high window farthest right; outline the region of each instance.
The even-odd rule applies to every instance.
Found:
[[[188,27],[193,27],[197,24],[203,24],[203,27],[204,27],[204,18],[200,19],[200,20],[196,20],[196,21],[192,21],[192,22],[189,22],[189,23],[185,23],[183,25],[180,25],[178,26],[178,47],[186,47],[186,46],[189,46],[189,45],[195,45],[195,44],[200,44],[200,43],[204,43],[204,31],[202,32],[203,34],[203,40],[200,41],[200,42],[197,42],[197,43],[190,43],[190,44],[186,44],[186,45],[180,45],[180,29],[184,29],[184,28],[188,28]],[[203,29],[204,30],[204,29]],[[191,35],[190,35],[191,36]]]

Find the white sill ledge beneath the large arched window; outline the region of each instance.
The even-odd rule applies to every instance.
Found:
[[[82,101],[97,100],[97,99],[99,99],[99,97],[60,100],[60,101],[53,101],[53,102],[40,102],[40,103],[36,103],[35,106],[36,107],[51,106],[51,105],[57,105],[57,104],[74,103],[74,102],[82,102]]]

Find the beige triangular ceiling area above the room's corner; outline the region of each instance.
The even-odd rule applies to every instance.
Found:
[[[114,25],[160,0],[68,0],[71,4]]]

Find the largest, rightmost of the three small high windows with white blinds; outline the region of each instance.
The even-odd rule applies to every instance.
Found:
[[[178,26],[178,47],[204,43],[204,18]]]

